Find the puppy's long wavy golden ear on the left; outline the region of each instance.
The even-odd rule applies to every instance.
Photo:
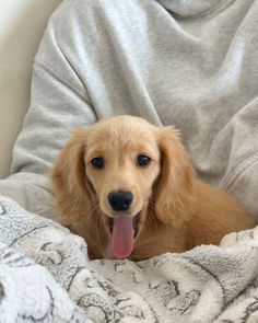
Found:
[[[50,173],[64,224],[77,222],[90,210],[91,198],[84,165],[86,134],[85,129],[74,132]]]

